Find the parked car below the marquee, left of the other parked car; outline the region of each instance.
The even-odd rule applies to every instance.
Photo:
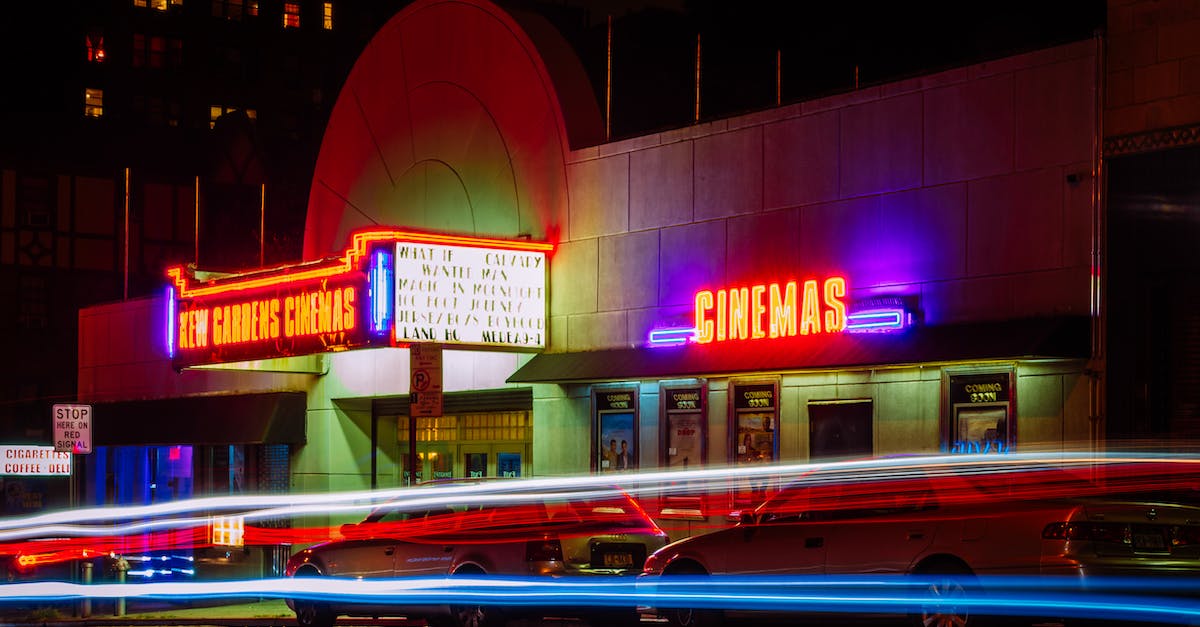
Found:
[[[508,483],[508,482],[505,482]],[[515,485],[518,480],[512,482]],[[445,484],[443,484],[445,485]],[[509,492],[515,494],[515,492]],[[467,501],[466,497],[462,502]],[[646,556],[667,543],[664,533],[619,489],[586,495],[539,491],[509,504],[456,504],[432,509],[395,501],[359,524],[342,527],[343,539],[304,549],[288,561],[288,577],[403,578],[439,575],[533,575],[572,578],[641,573]],[[490,627],[514,617],[583,617],[593,625],[634,625],[629,608],[498,608],[320,603],[289,599],[301,627],[329,627],[337,616],[404,615],[432,625]]]

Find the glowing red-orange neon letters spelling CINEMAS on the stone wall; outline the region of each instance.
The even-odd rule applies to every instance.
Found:
[[[696,342],[791,338],[846,329],[846,279],[701,289]]]

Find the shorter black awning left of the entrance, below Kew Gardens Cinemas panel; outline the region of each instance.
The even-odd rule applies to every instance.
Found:
[[[101,402],[92,443],[301,444],[307,406],[304,392]]]

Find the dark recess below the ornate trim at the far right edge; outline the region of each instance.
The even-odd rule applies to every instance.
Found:
[[[1200,148],[1109,165],[1106,430],[1200,436]]]

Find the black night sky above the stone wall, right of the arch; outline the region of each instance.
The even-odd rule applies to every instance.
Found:
[[[980,2],[563,0],[508,2],[536,11],[572,43],[604,96],[613,17],[613,136],[690,124],[696,34],[703,49],[702,118],[930,73],[1103,29],[1102,0]],[[601,102],[602,107],[602,102]]]

